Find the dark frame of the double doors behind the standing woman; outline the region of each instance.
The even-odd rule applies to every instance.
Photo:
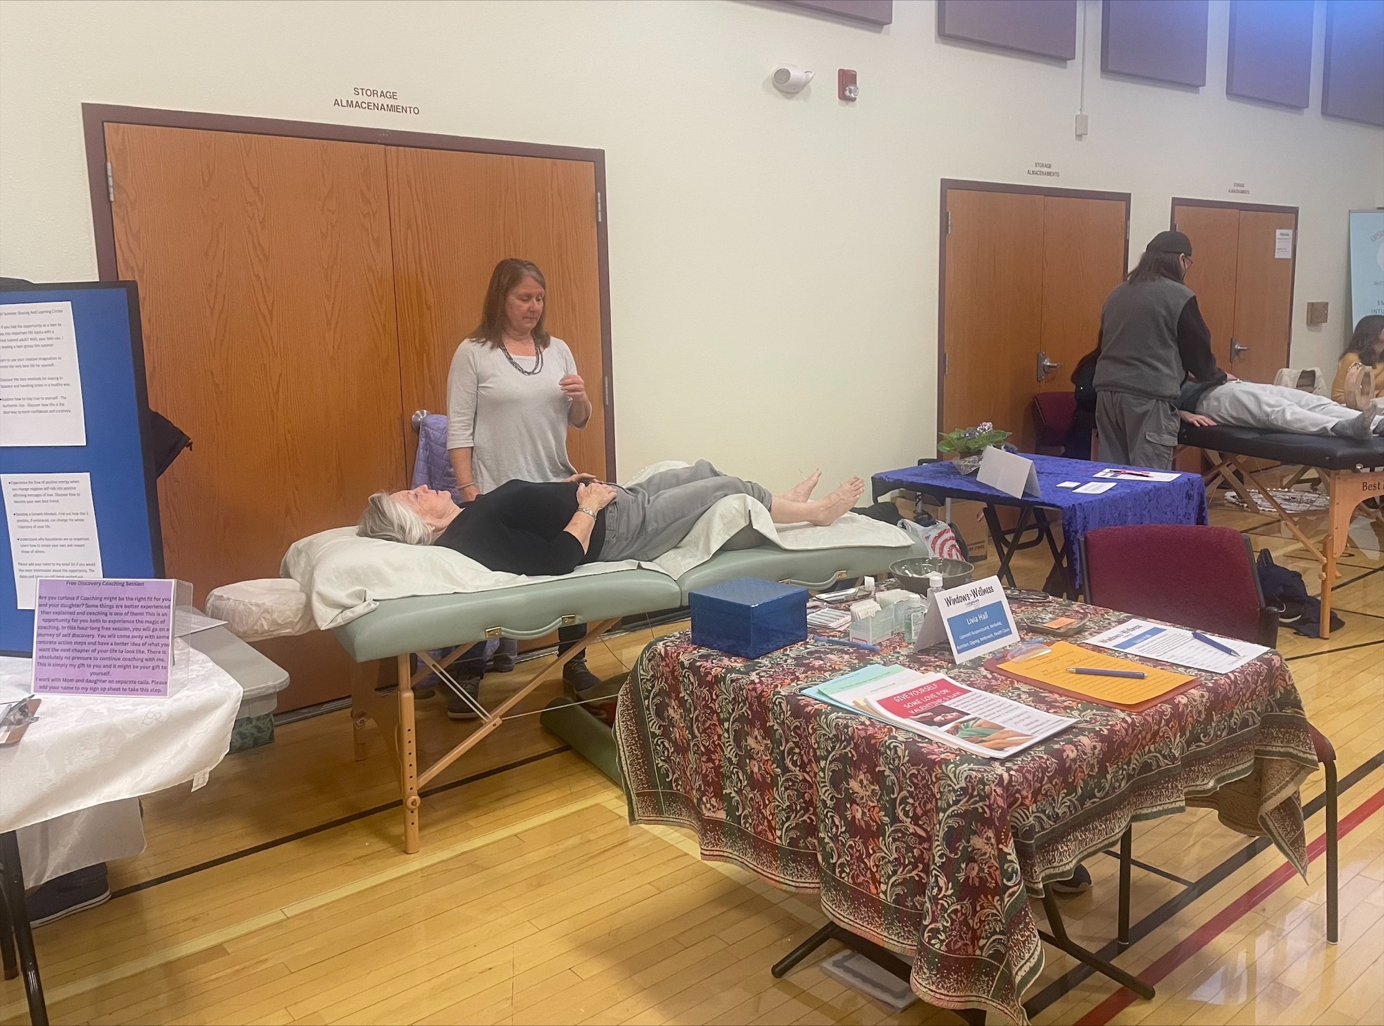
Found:
[[[95,234],[97,277],[118,281],[120,277],[115,251],[115,213],[111,186],[107,177],[109,162],[105,150],[105,126],[143,125],[163,129],[194,129],[199,132],[234,132],[246,136],[282,136],[329,143],[367,143],[372,145],[407,147],[414,150],[450,150],[464,154],[495,154],[500,156],[538,156],[549,161],[584,161],[595,170],[597,186],[597,274],[601,289],[601,360],[603,377],[598,393],[605,403],[606,479],[616,480],[614,467],[614,367],[610,353],[610,244],[606,235],[605,150],[585,147],[548,145],[544,143],[512,143],[498,138],[471,136],[439,136],[429,132],[372,129],[363,125],[329,125],[324,122],[278,120],[274,118],[245,118],[234,114],[201,114],[195,111],[163,111],[149,107],[119,107],[112,104],[82,104],[82,133],[86,138],[87,183],[91,190],[91,227]],[[609,382],[609,396],[606,396]],[[411,411],[406,410],[408,417]]]

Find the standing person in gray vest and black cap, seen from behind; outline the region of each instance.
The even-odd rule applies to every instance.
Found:
[[[1182,382],[1228,379],[1197,298],[1182,284],[1190,266],[1192,241],[1160,231],[1100,312],[1096,431],[1106,462],[1171,469]]]

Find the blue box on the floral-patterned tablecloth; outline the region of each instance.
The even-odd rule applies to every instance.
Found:
[[[692,641],[758,659],[807,640],[807,588],[776,580],[736,577],[688,594]]]

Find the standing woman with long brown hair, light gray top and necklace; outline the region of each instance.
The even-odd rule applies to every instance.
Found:
[[[495,264],[482,307],[480,324],[457,346],[447,375],[447,449],[461,500],[469,503],[507,480],[567,480],[576,471],[567,458],[567,428],[591,420],[587,386],[572,350],[545,327],[548,285],[529,260]],[[587,633],[585,626],[558,631],[559,651]],[[512,649],[497,662],[513,666]],[[483,658],[468,654],[459,680],[475,696]],[[599,683],[587,669],[585,654],[562,669],[576,690]],[[475,716],[471,705],[450,691],[453,719]]]

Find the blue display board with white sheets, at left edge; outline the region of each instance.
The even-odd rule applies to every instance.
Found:
[[[0,474],[90,474],[102,575],[162,577],[158,492],[144,450],[149,407],[138,292],[133,281],[0,288],[0,306],[61,302],[72,303],[86,444],[0,446]],[[29,655],[33,611],[18,608],[7,525],[0,525],[0,654]]]

